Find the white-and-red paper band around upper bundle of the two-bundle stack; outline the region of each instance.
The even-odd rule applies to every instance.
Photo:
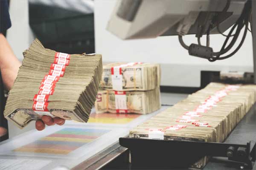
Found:
[[[127,64],[122,64],[111,68],[111,80],[113,90],[122,91],[122,67],[128,67],[137,64],[142,64],[142,62],[129,62]]]

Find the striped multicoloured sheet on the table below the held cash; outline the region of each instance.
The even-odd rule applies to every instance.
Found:
[[[68,154],[84,144],[93,142],[110,130],[64,128],[13,151],[32,153]]]

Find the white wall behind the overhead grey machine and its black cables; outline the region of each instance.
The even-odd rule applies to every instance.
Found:
[[[229,59],[209,62],[192,57],[181,47],[177,36],[144,40],[121,40],[106,30],[116,0],[95,0],[94,22],[96,53],[103,62],[157,62],[162,66],[161,85],[200,86],[200,71],[253,71],[252,38],[247,38],[237,54]],[[250,32],[248,32],[250,33]],[[184,38],[187,45],[196,42],[195,36]],[[210,43],[218,51],[224,42],[221,35],[211,35]],[[203,41],[205,43],[205,41]]]

